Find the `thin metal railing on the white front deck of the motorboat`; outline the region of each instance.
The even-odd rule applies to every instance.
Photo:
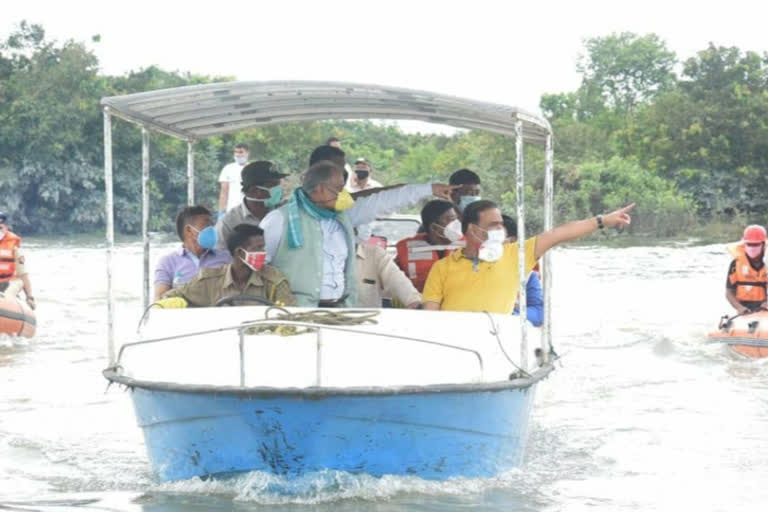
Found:
[[[433,345],[438,347],[443,347],[447,349],[457,350],[461,352],[467,352],[471,353],[475,356],[477,359],[478,366],[480,368],[480,376],[482,377],[484,374],[484,364],[483,364],[483,356],[478,352],[477,350],[467,348],[467,347],[461,347],[458,345],[453,345],[450,343],[445,343],[442,341],[435,341],[435,340],[427,340],[423,338],[415,338],[411,336],[401,336],[399,334],[389,334],[389,333],[383,333],[383,332],[371,332],[367,330],[361,330],[361,329],[354,329],[350,327],[339,327],[335,325],[326,325],[326,324],[317,324],[313,322],[300,322],[300,321],[292,321],[292,320],[280,320],[280,319],[274,319],[274,318],[267,318],[262,320],[253,320],[249,322],[243,322],[238,325],[233,326],[227,326],[227,327],[218,327],[216,329],[206,329],[203,331],[196,331],[196,332],[190,332],[190,333],[184,333],[184,334],[174,334],[171,336],[163,336],[160,338],[150,338],[146,340],[138,340],[138,341],[132,341],[128,343],[124,343],[118,352],[117,355],[117,361],[115,365],[113,366],[114,369],[121,368],[121,361],[123,358],[123,352],[127,348],[132,348],[136,346],[141,345],[148,345],[148,344],[154,344],[154,343],[161,343],[166,341],[172,341],[172,340],[178,340],[183,338],[193,338],[197,336],[205,336],[208,334],[216,334],[221,332],[227,332],[227,331],[237,331],[239,342],[238,342],[238,350],[239,350],[239,360],[240,360],[240,386],[245,386],[246,381],[246,365],[245,365],[245,340],[246,340],[246,331],[249,329],[252,329],[254,327],[302,327],[308,329],[308,331],[305,331],[302,334],[305,334],[307,332],[315,332],[315,344],[316,344],[316,356],[315,356],[315,386],[322,386],[322,369],[323,369],[323,332],[324,331],[334,331],[334,332],[346,332],[346,333],[352,333],[352,334],[361,334],[364,335],[364,338],[369,337],[376,337],[376,338],[388,338],[392,340],[398,340],[398,341],[410,341],[414,343],[423,343],[426,345]],[[277,334],[279,335],[279,334]],[[290,336],[288,336],[290,337]]]

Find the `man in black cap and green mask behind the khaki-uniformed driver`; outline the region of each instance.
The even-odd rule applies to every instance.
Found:
[[[258,226],[261,219],[275,209],[283,199],[280,181],[287,174],[278,172],[274,163],[266,160],[250,162],[243,167],[240,175],[243,199],[216,223],[218,234],[216,247],[219,249],[226,249],[226,241],[235,226],[240,224]]]

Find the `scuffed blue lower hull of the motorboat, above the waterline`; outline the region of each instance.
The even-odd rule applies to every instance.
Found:
[[[253,395],[132,386],[161,480],[333,469],[490,477],[523,458],[535,382],[403,394]]]

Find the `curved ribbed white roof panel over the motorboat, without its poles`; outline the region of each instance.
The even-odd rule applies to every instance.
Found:
[[[224,82],[111,96],[108,112],[186,140],[255,126],[323,119],[414,119],[544,144],[549,123],[524,110],[430,92],[343,82]]]

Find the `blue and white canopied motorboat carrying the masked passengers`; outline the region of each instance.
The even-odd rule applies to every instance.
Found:
[[[545,119],[515,107],[338,82],[214,83],[107,97],[101,104],[109,357],[103,373],[130,393],[159,480],[320,470],[491,477],[521,463],[536,387],[553,370],[547,255],[541,330],[520,320],[526,318],[522,249],[520,316],[253,305],[153,309],[149,144],[151,132],[187,142],[192,205],[193,144],[213,135],[281,122],[362,118],[502,134],[516,141],[523,239],[524,144],[545,150],[544,227],[552,227],[552,133]],[[143,307],[149,314],[135,336],[115,333],[113,322],[113,118],[142,129]],[[333,322],[326,321],[329,315]],[[539,342],[529,343],[533,333]]]

